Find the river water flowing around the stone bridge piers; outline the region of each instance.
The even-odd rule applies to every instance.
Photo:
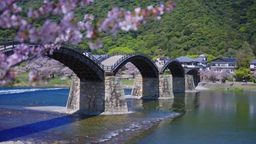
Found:
[[[133,113],[66,115],[24,109],[65,106],[69,88],[0,88],[0,142],[256,143],[255,92],[176,93],[126,99]],[[130,94],[131,89],[125,89]]]

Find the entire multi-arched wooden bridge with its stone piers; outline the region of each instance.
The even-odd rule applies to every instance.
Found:
[[[19,44],[15,39],[0,39],[0,52],[10,56]],[[132,93],[142,98],[170,99],[173,92],[185,92],[188,85],[186,75],[193,75],[195,85],[198,83],[198,71],[184,69],[177,59],[168,59],[158,67],[141,52],[114,52],[96,59],[78,46],[63,44],[60,49],[54,50],[53,55],[48,53],[46,56],[65,64],[77,75],[72,81],[67,108],[83,113],[128,112],[123,85],[115,77],[128,62],[141,73],[141,78],[135,80]],[[167,69],[171,75],[163,75]]]

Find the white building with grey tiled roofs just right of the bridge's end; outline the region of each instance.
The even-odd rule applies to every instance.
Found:
[[[181,56],[176,58],[178,59],[179,62],[181,62],[183,67],[188,67],[188,68],[196,68],[196,69],[207,69],[207,56],[205,55],[200,55],[197,58],[190,58],[187,56]]]

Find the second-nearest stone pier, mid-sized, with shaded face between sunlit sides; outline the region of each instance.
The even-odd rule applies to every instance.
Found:
[[[172,76],[160,74],[156,79],[136,75],[131,95],[142,99],[172,99]]]

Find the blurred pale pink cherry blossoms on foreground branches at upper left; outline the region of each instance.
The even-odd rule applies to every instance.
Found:
[[[52,54],[61,44],[78,44],[83,37],[91,41],[91,49],[98,49],[103,46],[104,36],[117,34],[120,29],[136,31],[141,23],[145,23],[146,17],[154,16],[160,19],[160,16],[170,13],[175,6],[173,2],[167,2],[156,7],[150,5],[146,9],[136,8],[133,11],[113,8],[102,22],[94,23],[94,16],[86,14],[83,21],[74,23],[73,10],[79,4],[85,7],[92,2],[94,0],[60,0],[57,3],[44,0],[44,4],[39,9],[28,10],[27,17],[32,19],[32,22],[28,22],[19,15],[22,9],[18,7],[16,0],[0,0],[0,28],[18,29],[16,39],[20,41],[14,55],[7,57],[0,53],[0,85],[14,79],[16,72],[13,71],[13,67],[21,62],[42,57],[46,53]],[[40,19],[40,16],[46,14],[63,15],[63,17],[58,23],[45,20],[42,28],[36,27],[33,20]],[[37,77],[40,75],[36,71],[29,76],[31,81],[44,79]]]

